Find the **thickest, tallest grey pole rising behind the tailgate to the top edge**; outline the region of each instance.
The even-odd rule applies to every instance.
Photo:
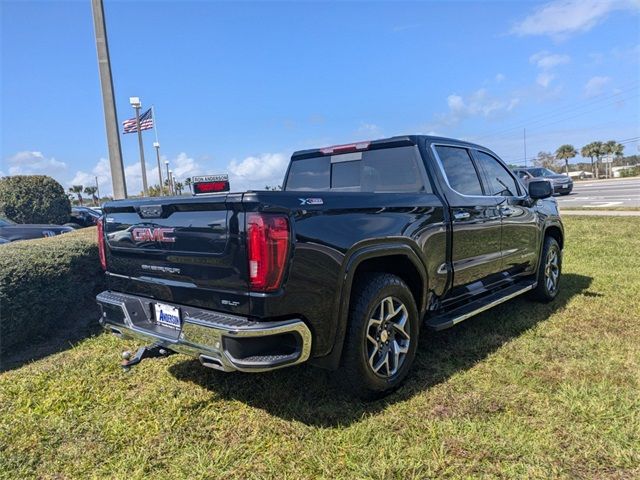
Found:
[[[124,178],[124,165],[122,164],[122,149],[120,147],[120,135],[118,133],[118,116],[116,113],[116,100],[113,93],[109,45],[107,43],[107,29],[104,21],[102,0],[91,0],[91,8],[93,10],[96,49],[98,51],[100,85],[102,86],[104,123],[107,129],[111,183],[113,185],[113,197],[118,200],[127,198],[127,184]]]

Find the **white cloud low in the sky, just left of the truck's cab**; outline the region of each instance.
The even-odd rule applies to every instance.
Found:
[[[231,190],[262,190],[266,185],[282,185],[289,156],[282,153],[263,153],[227,165]]]

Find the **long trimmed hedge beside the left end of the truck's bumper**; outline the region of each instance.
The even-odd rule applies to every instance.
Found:
[[[103,287],[95,227],[0,246],[0,358],[97,315]]]

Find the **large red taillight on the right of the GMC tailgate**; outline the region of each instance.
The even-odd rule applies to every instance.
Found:
[[[247,214],[249,285],[272,292],[280,287],[289,253],[289,220],[282,215]]]

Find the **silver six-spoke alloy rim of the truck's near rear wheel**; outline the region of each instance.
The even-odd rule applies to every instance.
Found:
[[[409,313],[395,297],[384,298],[373,310],[367,324],[369,367],[383,378],[393,377],[405,361],[411,336]]]

